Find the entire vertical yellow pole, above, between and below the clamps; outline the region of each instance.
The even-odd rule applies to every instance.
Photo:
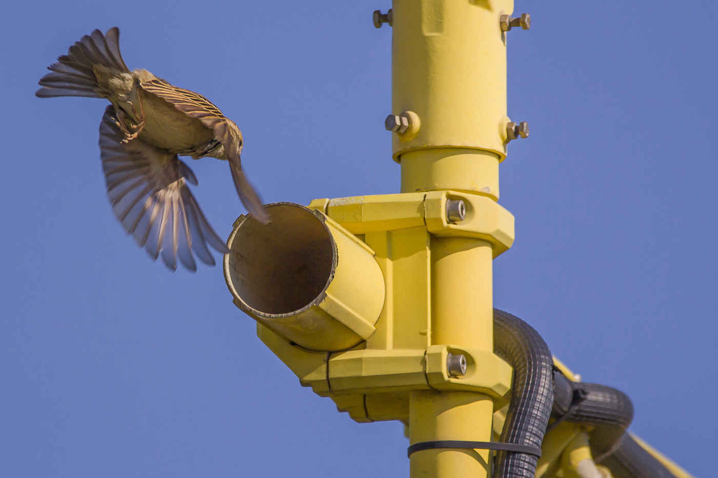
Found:
[[[450,189],[498,199],[505,157],[506,53],[500,16],[513,0],[394,0],[392,114],[413,112],[420,128],[393,137],[401,192]],[[493,352],[490,243],[436,237],[431,254],[431,343]],[[487,395],[416,390],[409,441],[490,441]],[[411,477],[490,474],[487,450],[429,449],[410,458]]]

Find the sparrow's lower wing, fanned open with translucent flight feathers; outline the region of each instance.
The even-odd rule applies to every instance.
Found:
[[[132,139],[123,143],[115,108],[108,106],[100,123],[100,155],[112,210],[127,233],[133,235],[151,258],[162,261],[173,271],[177,257],[197,270],[197,257],[214,266],[207,245],[229,253],[197,205],[185,181],[197,178],[177,154]]]

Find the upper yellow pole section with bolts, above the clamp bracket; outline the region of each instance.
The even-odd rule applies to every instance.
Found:
[[[416,134],[393,137],[401,192],[458,189],[498,198],[505,157],[506,32],[513,0],[394,0],[392,113]]]

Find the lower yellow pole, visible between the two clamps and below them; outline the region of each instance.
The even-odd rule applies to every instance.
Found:
[[[432,343],[493,350],[489,243],[432,238]],[[490,441],[493,402],[470,392],[415,391],[409,400],[411,444]],[[488,450],[437,449],[411,455],[411,477],[486,477]]]

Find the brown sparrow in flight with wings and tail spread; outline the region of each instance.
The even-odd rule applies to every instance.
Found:
[[[178,88],[148,70],[129,70],[119,29],[95,29],[57,58],[38,84],[39,98],[105,98],[100,156],[114,214],[127,233],[172,271],[215,265],[208,249],[227,254],[187,183],[197,177],[179,156],[227,160],[243,205],[259,222],[270,217],[241,167],[242,133],[204,96]],[[194,254],[193,254],[194,252]]]

